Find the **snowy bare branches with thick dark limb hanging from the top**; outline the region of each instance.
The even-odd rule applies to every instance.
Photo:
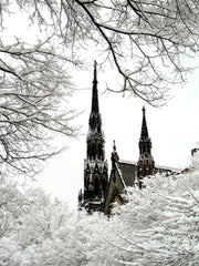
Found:
[[[154,104],[169,82],[184,80],[180,55],[199,49],[197,0],[3,1],[2,18],[10,2],[60,34],[73,55],[96,45],[124,78],[122,91]]]

